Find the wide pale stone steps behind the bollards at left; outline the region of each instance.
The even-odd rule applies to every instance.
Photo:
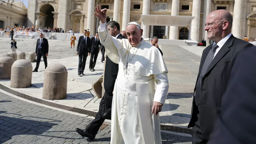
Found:
[[[26,59],[29,57],[29,52],[35,52],[36,50],[36,40],[35,39],[15,39],[17,42],[16,53],[22,51],[26,53]],[[48,40],[49,52],[48,57],[50,59],[61,59],[64,57],[76,56],[76,46],[75,48],[70,48],[70,41],[61,40]],[[11,38],[0,38],[0,54],[10,52],[11,50]]]

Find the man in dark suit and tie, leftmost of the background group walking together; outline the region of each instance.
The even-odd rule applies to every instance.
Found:
[[[79,37],[77,43],[76,54],[79,57],[78,75],[84,75],[86,59],[91,54],[91,44],[91,39],[87,37],[87,30],[84,30],[84,35]]]

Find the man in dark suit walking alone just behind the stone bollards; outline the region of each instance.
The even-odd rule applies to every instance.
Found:
[[[37,72],[39,68],[39,64],[41,61],[41,57],[44,59],[44,65],[45,69],[47,67],[47,56],[48,56],[48,50],[49,50],[49,44],[48,40],[44,38],[44,34],[39,34],[40,39],[37,39],[36,42],[36,68],[33,70],[33,72]]]

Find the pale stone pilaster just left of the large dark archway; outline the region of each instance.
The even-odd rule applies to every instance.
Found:
[[[27,26],[32,27],[35,26],[36,17],[35,11],[37,6],[37,0],[29,0],[29,7],[27,9]]]

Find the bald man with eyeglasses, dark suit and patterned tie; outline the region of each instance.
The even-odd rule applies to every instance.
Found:
[[[231,33],[233,18],[229,11],[220,9],[206,17],[207,39],[213,44],[203,50],[194,89],[191,119],[192,143],[204,144],[221,113],[222,95],[226,91],[236,56],[253,46]]]

